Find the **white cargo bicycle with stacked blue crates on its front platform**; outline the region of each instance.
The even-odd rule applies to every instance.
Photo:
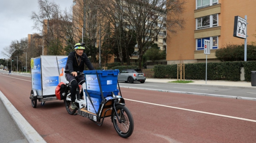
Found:
[[[79,91],[76,93],[75,103],[78,109],[73,110],[71,108],[70,83],[66,83],[67,89],[63,94],[64,103],[68,114],[79,114],[90,119],[99,126],[102,125],[105,117],[111,117],[114,129],[118,135],[123,138],[128,138],[132,135],[134,122],[132,114],[125,106],[124,98],[121,95],[120,86],[117,81],[118,72],[118,70],[94,70],[84,71],[83,73],[77,72],[78,74],[76,78],[81,76],[85,77],[85,75],[87,75],[87,77],[85,77],[86,82],[82,85],[83,97],[80,97]],[[65,71],[65,73],[70,74],[68,70]],[[112,77],[110,76],[109,78],[108,75],[115,75],[116,77],[112,76],[114,77],[112,80]],[[117,84],[112,84],[113,82],[117,82]],[[96,88],[93,84],[96,84]],[[108,85],[111,86],[109,87]],[[119,90],[116,89],[117,85]],[[102,86],[104,86],[103,90]],[[118,92],[120,92],[120,96],[118,95]]]

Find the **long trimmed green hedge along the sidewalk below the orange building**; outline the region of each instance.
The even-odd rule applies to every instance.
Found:
[[[207,63],[207,79],[240,81],[241,67],[245,69],[245,81],[251,81],[251,71],[256,71],[256,61]],[[154,78],[177,79],[177,64],[159,64],[153,70]],[[206,63],[185,64],[185,79],[205,80],[205,71]]]

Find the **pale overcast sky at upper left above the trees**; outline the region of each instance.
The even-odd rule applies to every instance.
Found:
[[[69,10],[73,3],[73,0],[48,1],[59,4],[62,10]],[[28,34],[38,33],[32,29],[32,11],[38,13],[38,0],[0,0],[0,59],[7,58],[1,51],[11,45],[11,41],[19,41]]]

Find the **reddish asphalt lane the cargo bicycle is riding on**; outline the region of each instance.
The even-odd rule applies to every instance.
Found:
[[[47,143],[256,142],[256,102],[251,100],[121,88],[135,122],[132,136],[123,139],[110,118],[99,127],[87,118],[69,115],[62,100],[33,108],[30,77],[0,75],[0,79],[0,91]]]

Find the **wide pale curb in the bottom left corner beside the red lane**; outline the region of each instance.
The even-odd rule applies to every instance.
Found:
[[[25,136],[29,143],[46,143],[46,141],[38,134],[38,132],[26,121],[26,119],[19,113],[19,111],[11,104],[11,102],[0,91],[0,99],[11,115],[20,131]]]

